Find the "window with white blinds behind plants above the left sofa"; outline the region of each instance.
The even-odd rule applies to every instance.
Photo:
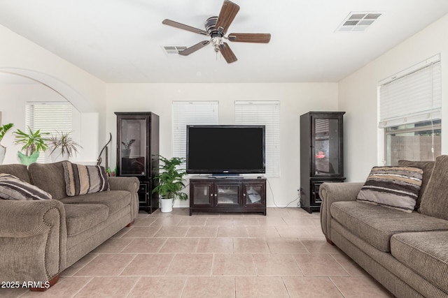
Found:
[[[73,106],[66,102],[27,103],[26,125],[26,132],[28,132],[28,126],[32,131],[41,130],[41,133],[71,132],[73,131]],[[45,154],[41,154],[37,162],[45,163]]]

